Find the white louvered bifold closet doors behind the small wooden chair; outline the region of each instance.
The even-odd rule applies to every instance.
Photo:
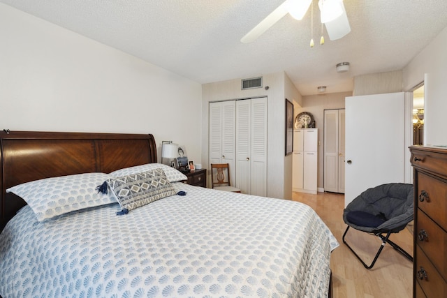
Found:
[[[242,193],[267,195],[267,98],[210,103],[210,163],[229,163]]]

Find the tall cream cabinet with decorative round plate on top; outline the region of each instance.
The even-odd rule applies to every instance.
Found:
[[[318,181],[318,128],[293,131],[293,191],[316,193]]]

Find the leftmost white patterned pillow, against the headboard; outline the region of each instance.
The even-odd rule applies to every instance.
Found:
[[[95,188],[110,175],[105,173],[74,174],[30,181],[8,188],[29,204],[38,221],[71,211],[116,203],[113,195],[98,193]]]

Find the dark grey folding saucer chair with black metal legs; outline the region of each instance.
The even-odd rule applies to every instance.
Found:
[[[403,230],[413,221],[413,184],[391,183],[369,188],[346,206],[343,221],[348,225],[343,234],[343,243],[356,255],[367,269],[371,269],[385,244],[390,244],[407,259],[413,261],[409,253],[389,239],[390,234]],[[349,228],[376,235],[382,244],[371,265],[365,262],[346,243],[344,237]]]

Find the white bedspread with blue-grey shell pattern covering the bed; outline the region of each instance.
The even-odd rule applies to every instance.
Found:
[[[116,216],[119,204],[39,223],[24,207],[0,235],[10,297],[327,297],[339,244],[307,205],[181,182]]]

